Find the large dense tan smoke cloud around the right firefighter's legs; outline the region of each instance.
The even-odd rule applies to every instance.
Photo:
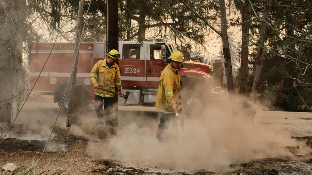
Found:
[[[228,164],[233,161],[292,156],[286,146],[300,145],[301,152],[298,154],[301,155],[311,152],[302,146],[304,144],[291,139],[289,132],[268,130],[261,123],[252,122],[250,116],[246,115],[252,113],[250,108],[261,110],[263,107],[249,102],[250,108],[247,111],[242,108],[242,104],[242,99],[232,100],[231,105],[215,103],[200,118],[185,120],[182,143],[170,138],[173,134],[172,123],[168,139],[164,142],[159,142],[155,137],[157,125],[151,129],[131,124],[119,130],[108,147],[115,154],[113,159],[132,164],[172,166],[180,171],[204,168],[216,172],[229,170]],[[236,113],[233,116],[230,106]],[[100,155],[100,150],[94,151]],[[102,154],[100,158],[112,159],[108,153]]]

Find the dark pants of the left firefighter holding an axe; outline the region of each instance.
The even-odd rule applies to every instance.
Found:
[[[104,100],[104,112],[103,112],[103,100]],[[115,116],[114,110],[114,98],[113,97],[101,97],[100,95],[95,95],[94,108],[96,115],[99,119],[104,119],[106,125],[115,127],[118,118]],[[117,119],[116,119],[117,118]]]

